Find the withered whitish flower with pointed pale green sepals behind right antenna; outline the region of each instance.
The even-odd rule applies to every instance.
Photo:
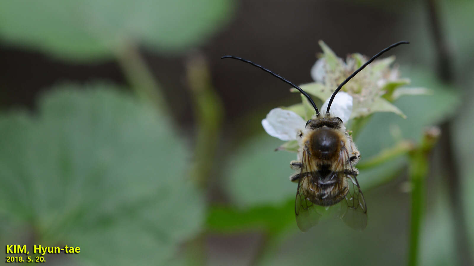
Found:
[[[354,53],[343,60],[337,57],[324,42],[319,41],[319,45],[323,53],[311,68],[311,77],[316,82],[300,87],[311,96],[325,100],[342,81],[369,58]],[[410,80],[400,78],[397,67],[390,67],[394,60],[394,56],[375,60],[342,87],[343,91],[353,97],[351,119],[365,117],[376,112],[392,112],[405,117],[401,110],[392,104],[396,98],[402,95],[430,94],[428,89],[401,88],[409,84]],[[298,92],[297,90],[292,91]],[[323,109],[322,112],[326,112],[324,108],[321,109]],[[331,106],[331,113],[332,111]]]

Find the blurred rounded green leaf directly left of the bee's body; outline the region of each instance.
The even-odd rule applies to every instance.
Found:
[[[294,172],[290,161],[296,154],[274,151],[282,141],[262,134],[242,144],[228,159],[226,191],[240,208],[279,205],[294,197],[296,184],[288,179]]]

